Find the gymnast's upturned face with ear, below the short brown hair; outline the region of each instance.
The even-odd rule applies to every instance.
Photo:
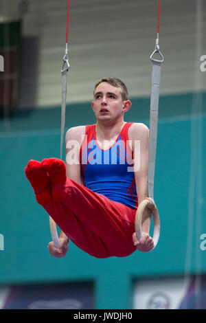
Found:
[[[119,87],[107,82],[102,82],[96,87],[91,107],[97,120],[114,120],[123,118],[124,112],[130,108],[130,101],[122,100],[122,93]]]

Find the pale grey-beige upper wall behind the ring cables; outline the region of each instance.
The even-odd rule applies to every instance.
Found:
[[[200,57],[196,54],[206,54],[206,5],[203,1],[202,17],[197,17],[198,1],[161,1],[159,36],[165,56],[161,94],[193,91],[198,73],[201,78],[198,88],[206,89],[206,76],[196,71],[200,65]],[[0,0],[4,10],[8,3],[19,2]],[[23,15],[23,35],[36,36],[40,42],[36,52],[38,80],[34,82],[35,104],[38,107],[60,105],[67,0],[30,0],[28,3],[28,10]],[[155,48],[158,1],[71,0],[70,3],[68,103],[90,101],[94,83],[105,76],[122,78],[130,97],[149,96],[149,56]],[[202,24],[198,21],[200,18]],[[26,83],[27,75],[24,74],[23,78]],[[24,109],[31,102],[25,87],[22,91],[25,91],[21,95],[21,108]]]

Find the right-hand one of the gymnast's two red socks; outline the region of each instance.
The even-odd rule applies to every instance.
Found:
[[[62,201],[65,199],[65,183],[67,180],[67,171],[64,161],[57,158],[43,159],[41,165],[49,174],[52,186],[52,199]]]

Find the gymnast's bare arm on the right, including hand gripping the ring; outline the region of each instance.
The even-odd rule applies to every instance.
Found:
[[[147,197],[149,129],[145,124],[135,123],[130,126],[128,136],[129,140],[132,140],[135,184],[138,204],[140,204]],[[142,216],[142,238],[139,243],[135,233],[133,234],[133,243],[142,252],[148,252],[153,247],[153,240],[150,237],[151,216],[151,212],[146,209]]]

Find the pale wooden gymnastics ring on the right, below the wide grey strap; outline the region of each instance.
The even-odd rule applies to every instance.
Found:
[[[138,206],[137,212],[135,215],[135,234],[137,236],[137,240],[141,239],[141,219],[142,214],[144,213],[145,208],[149,208],[152,212],[153,221],[154,221],[154,232],[153,232],[153,241],[155,249],[158,241],[159,241],[159,234],[160,234],[160,219],[159,219],[159,212],[157,210],[157,206],[155,202],[150,198],[146,197]]]

